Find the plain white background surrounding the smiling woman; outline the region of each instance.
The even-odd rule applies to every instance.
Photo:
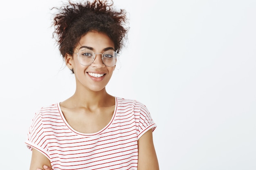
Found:
[[[29,169],[40,107],[75,90],[52,39],[59,0],[0,10],[2,170]],[[256,169],[256,1],[115,0],[130,32],[107,91],[144,103],[161,170]]]

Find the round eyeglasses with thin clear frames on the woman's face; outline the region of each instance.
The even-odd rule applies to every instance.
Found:
[[[119,54],[115,51],[105,51],[104,53],[94,53],[92,50],[81,50],[77,54],[78,61],[83,66],[90,66],[94,60],[96,54],[101,54],[101,60],[106,66],[112,67],[117,64],[117,58]]]

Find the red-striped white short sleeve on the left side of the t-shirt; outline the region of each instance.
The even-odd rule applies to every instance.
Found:
[[[46,140],[41,115],[40,112],[38,112],[32,119],[32,124],[29,127],[25,144],[27,144],[27,148],[29,148],[29,150],[35,148],[49,159]]]

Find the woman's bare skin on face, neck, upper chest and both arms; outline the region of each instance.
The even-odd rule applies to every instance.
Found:
[[[114,50],[114,43],[108,35],[91,31],[81,37],[74,52],[78,53],[79,49],[86,48],[91,48],[94,53],[103,53]],[[99,54],[90,66],[81,65],[76,54],[66,55],[66,64],[74,70],[76,91],[72,97],[60,104],[65,119],[76,131],[97,132],[109,123],[115,109],[115,97],[106,92],[106,85],[115,66],[105,66]],[[88,73],[99,73],[104,76],[95,78]],[[151,129],[140,137],[138,148],[138,170],[159,170]],[[33,149],[30,170],[52,170],[52,167],[45,155]]]

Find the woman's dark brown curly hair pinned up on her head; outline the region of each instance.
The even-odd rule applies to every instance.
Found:
[[[90,31],[106,33],[114,42],[117,53],[124,46],[129,29],[125,27],[126,11],[115,10],[112,0],[111,3],[101,0],[73,3],[69,0],[62,7],[52,9],[58,10],[52,24],[53,38],[64,59],[66,54],[71,55],[81,37]]]

